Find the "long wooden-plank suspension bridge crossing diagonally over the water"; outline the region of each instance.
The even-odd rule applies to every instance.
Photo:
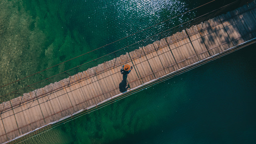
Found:
[[[78,66],[76,69],[80,72],[73,70],[76,74],[65,71],[63,74],[68,77],[60,76],[61,80],[47,78],[48,85],[3,102],[0,104],[0,142],[16,142],[25,135],[90,112],[256,41],[255,1],[225,14],[214,14],[210,19],[207,16],[196,19],[187,28],[183,25],[176,31],[170,29],[175,33],[146,46],[119,56],[111,53],[114,58],[86,70]],[[127,78],[130,89],[121,93],[120,68],[124,64],[134,69]]]

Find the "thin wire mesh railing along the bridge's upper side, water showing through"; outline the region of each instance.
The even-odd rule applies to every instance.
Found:
[[[215,0],[212,0],[211,2],[214,1]],[[110,44],[97,48],[96,50],[87,52],[85,54],[72,58],[66,62],[62,62],[56,66],[52,66],[51,68],[42,70],[40,72],[27,76],[26,78],[22,78],[10,84],[1,86],[0,101],[5,102],[13,98],[23,96],[23,94],[27,92],[37,90],[49,84],[54,84],[54,82],[58,82],[64,78],[69,78],[70,76],[73,76],[85,70],[87,70],[90,73],[88,74],[88,76],[93,75],[95,74],[95,71],[99,72],[100,70],[90,68],[97,68],[99,64],[118,58],[121,55],[132,52],[142,46],[152,44],[153,42],[161,40],[162,38],[171,36],[172,34],[189,28],[192,25],[198,24],[200,22],[208,20],[209,18],[213,18],[222,13],[228,12],[234,9],[240,1],[237,0],[226,6],[222,6],[221,8],[218,8],[216,10],[213,10],[196,18],[192,18],[191,20],[187,20],[186,22],[183,22],[181,24],[178,23],[182,16],[186,14],[189,15],[190,12],[196,11],[198,8],[209,6],[211,2],[198,6],[197,8],[194,8],[192,10],[188,10],[187,12],[184,12],[178,16],[175,16],[173,18],[160,22],[154,26],[148,27],[144,30],[131,34],[130,36],[127,36]],[[113,50],[115,51],[113,52]],[[101,54],[98,58],[96,58],[95,55],[93,55],[93,53],[96,51],[98,54]],[[63,70],[59,74],[55,74],[56,71],[64,69],[63,67],[65,67],[65,65],[69,65],[72,61],[77,61],[78,66],[70,70]],[[81,61],[84,63],[81,64]],[[118,66],[116,62],[114,62],[114,64],[111,65]]]

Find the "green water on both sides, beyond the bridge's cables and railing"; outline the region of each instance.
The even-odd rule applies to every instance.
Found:
[[[1,86],[202,3],[205,1],[1,0]],[[175,24],[202,12],[191,12]],[[140,38],[133,37],[130,43]],[[117,49],[108,47],[44,74],[58,74]],[[22,143],[254,143],[254,49],[255,45],[243,48]],[[24,84],[37,80],[28,79]]]

